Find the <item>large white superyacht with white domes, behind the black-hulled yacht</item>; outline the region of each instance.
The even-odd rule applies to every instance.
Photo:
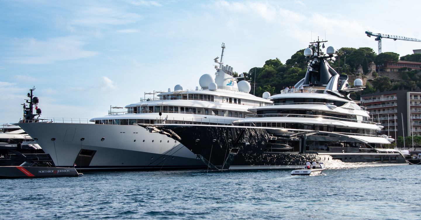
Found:
[[[185,169],[204,167],[189,149],[170,137],[149,133],[139,123],[227,125],[271,101],[255,97],[247,81],[237,83],[232,68],[215,58],[215,78],[200,77],[195,90],[176,85],[157,99],[125,106],[127,112],[92,118],[91,123],[19,123],[60,167],[83,170]]]

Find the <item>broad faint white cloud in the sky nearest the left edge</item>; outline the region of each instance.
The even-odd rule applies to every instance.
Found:
[[[63,60],[77,60],[98,55],[98,52],[83,50],[86,43],[79,37],[56,37],[46,41],[34,38],[16,39],[12,43],[14,55],[6,58],[9,63],[45,64]]]

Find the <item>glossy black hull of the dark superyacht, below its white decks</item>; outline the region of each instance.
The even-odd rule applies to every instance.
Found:
[[[157,128],[173,134],[174,139],[214,170],[297,169],[303,168],[306,161],[321,161],[329,168],[349,162],[406,162],[399,153],[360,152],[358,149],[344,153],[307,152],[304,150],[306,142],[301,140],[291,146],[292,152],[271,152],[271,137],[280,129],[213,125],[157,125]]]

